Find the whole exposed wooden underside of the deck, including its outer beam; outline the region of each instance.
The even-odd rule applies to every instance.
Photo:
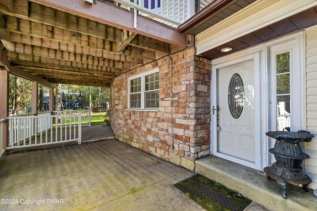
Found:
[[[1,55],[30,77],[109,86],[114,77],[185,48],[184,34],[142,16],[135,30],[131,11],[97,3],[0,0]]]

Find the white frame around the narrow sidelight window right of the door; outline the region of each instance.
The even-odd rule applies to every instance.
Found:
[[[277,42],[278,41],[278,42]],[[290,93],[291,93],[291,131],[297,131],[301,129],[306,129],[304,124],[305,114],[306,114],[306,103],[305,103],[305,80],[304,80],[304,50],[303,50],[303,32],[297,33],[292,36],[287,36],[284,39],[279,39],[276,42],[269,42],[267,44],[267,59],[268,59],[268,69],[272,69],[269,71],[271,75],[269,75],[269,86],[272,87],[276,85],[274,77],[276,77],[276,73],[273,71],[275,61],[269,61],[269,59],[273,60],[275,54],[279,54],[282,52],[289,51],[290,54]],[[272,91],[271,95],[276,95],[274,91]],[[269,130],[276,130],[276,100],[268,99],[272,101],[271,111],[269,118]],[[295,121],[294,121],[295,120]],[[273,148],[275,144],[275,139],[268,138],[268,148]],[[275,162],[275,158],[272,154],[268,154],[268,166]]]

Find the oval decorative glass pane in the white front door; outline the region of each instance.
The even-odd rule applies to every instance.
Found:
[[[243,111],[245,102],[244,85],[238,73],[233,74],[228,87],[228,105],[234,119],[238,119]]]

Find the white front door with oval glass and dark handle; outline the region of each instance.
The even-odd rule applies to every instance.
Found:
[[[212,70],[213,154],[260,170],[259,53]],[[214,91],[214,90],[213,90]],[[215,92],[213,92],[215,93]]]

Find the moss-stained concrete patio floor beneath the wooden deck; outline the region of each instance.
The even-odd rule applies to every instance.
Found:
[[[82,140],[2,156],[0,210],[204,210],[174,187],[195,172],[116,140],[110,127],[83,127]]]

